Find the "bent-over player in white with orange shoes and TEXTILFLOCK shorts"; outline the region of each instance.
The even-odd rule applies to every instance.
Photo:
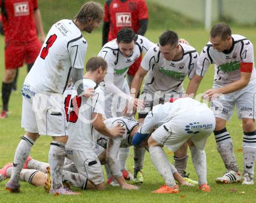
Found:
[[[215,118],[207,105],[189,97],[175,102],[158,104],[145,117],[143,125],[133,137],[132,143],[138,146],[142,140],[157,128],[148,139],[150,158],[155,168],[165,179],[165,184],[154,193],[179,193],[172,176],[172,164],[169,163],[162,147],[177,151],[189,139],[192,161],[198,175],[199,189],[210,191],[207,184],[207,166],[205,143],[214,131]]]

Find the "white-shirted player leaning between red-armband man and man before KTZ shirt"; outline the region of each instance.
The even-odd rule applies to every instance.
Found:
[[[145,75],[144,87],[140,98],[144,98],[145,108],[138,110],[138,118],[143,122],[153,106],[168,101],[170,97],[182,97],[185,93],[183,81],[191,79],[197,66],[198,53],[190,45],[178,42],[178,35],[173,31],[165,31],[159,37],[159,44],[154,45],[145,54],[133,82],[131,90],[140,91]],[[186,176],[187,144],[174,156],[175,167],[185,180],[195,183]],[[134,167],[134,176],[141,176],[142,164]],[[140,177],[138,177],[140,179]],[[137,180],[139,181],[139,180]]]

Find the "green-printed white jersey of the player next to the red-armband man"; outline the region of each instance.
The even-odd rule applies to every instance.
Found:
[[[187,75],[189,79],[193,78],[198,53],[190,45],[179,45],[183,50],[183,57],[176,61],[164,59],[158,45],[148,50],[141,62],[141,67],[148,71],[143,89],[152,93],[184,92],[183,81]]]

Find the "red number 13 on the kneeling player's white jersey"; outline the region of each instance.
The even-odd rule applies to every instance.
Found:
[[[67,95],[65,98],[65,113],[67,122],[76,122],[79,114],[79,108],[81,106],[82,97],[75,96],[71,99],[71,95]],[[70,103],[70,106],[69,106]],[[72,108],[72,111],[69,112],[69,108]]]

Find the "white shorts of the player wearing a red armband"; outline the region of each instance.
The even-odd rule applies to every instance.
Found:
[[[219,88],[219,86],[214,86]],[[239,119],[255,119],[256,84],[248,84],[245,88],[212,100],[212,111],[215,117],[229,121],[236,104],[236,114]]]

